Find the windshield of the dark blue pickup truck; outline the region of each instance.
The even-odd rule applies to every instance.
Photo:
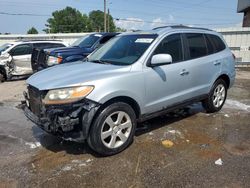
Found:
[[[72,46],[79,46],[81,48],[90,48],[101,37],[102,37],[102,35],[99,35],[99,34],[87,35],[87,36],[84,36],[84,37],[76,40],[72,44]]]

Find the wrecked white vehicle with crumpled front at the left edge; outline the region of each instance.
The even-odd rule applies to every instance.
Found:
[[[2,46],[0,55],[0,81],[33,73],[31,53],[33,48],[64,47],[61,41],[18,41]]]

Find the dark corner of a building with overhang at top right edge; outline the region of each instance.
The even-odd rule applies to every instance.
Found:
[[[244,13],[242,27],[250,27],[250,0],[238,0],[238,13]]]

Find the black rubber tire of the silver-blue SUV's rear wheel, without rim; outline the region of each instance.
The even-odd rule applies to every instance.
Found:
[[[215,92],[215,89],[218,86],[223,86],[224,87],[224,89],[225,89],[225,97],[224,97],[223,100],[221,100],[222,103],[219,106],[215,106],[215,104],[213,102],[213,100],[214,100],[214,92]],[[223,107],[226,98],[227,98],[227,84],[223,79],[218,79],[218,80],[215,81],[212,89],[210,90],[208,98],[202,101],[202,106],[206,110],[207,113],[218,112]]]

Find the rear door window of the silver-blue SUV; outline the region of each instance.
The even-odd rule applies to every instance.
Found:
[[[207,47],[203,34],[187,33],[186,38],[190,59],[195,59],[207,55]]]

